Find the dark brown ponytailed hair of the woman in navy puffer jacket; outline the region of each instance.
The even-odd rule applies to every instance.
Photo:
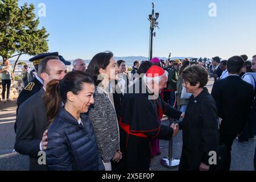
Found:
[[[94,84],[93,77],[88,73],[73,71],[64,76],[63,80],[52,80],[47,84],[46,94],[43,97],[46,106],[48,125],[59,113],[62,102],[67,101],[67,93],[79,94],[82,84]]]

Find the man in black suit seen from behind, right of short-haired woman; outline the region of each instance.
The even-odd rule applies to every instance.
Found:
[[[242,67],[242,57],[231,57],[227,63],[229,76],[216,81],[212,89],[212,96],[218,107],[218,115],[222,118],[220,144],[226,146],[224,169],[227,171],[230,169],[230,152],[233,141],[238,135],[241,135],[253,101],[253,86],[239,76]]]

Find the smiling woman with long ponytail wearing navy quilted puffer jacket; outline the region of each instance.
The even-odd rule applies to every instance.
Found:
[[[48,83],[44,104],[48,118],[46,163],[53,171],[104,170],[88,116],[94,81],[87,73],[71,72]],[[63,106],[62,106],[63,105]]]

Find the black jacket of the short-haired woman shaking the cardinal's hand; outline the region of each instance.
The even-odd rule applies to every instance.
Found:
[[[196,98],[191,96],[179,127],[183,130],[179,170],[199,170],[201,162],[209,166],[208,154],[218,148],[218,113],[216,102],[207,88]]]

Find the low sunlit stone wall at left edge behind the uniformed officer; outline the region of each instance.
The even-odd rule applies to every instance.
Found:
[[[11,89],[10,89],[10,98],[14,100],[18,98],[19,93],[22,91],[23,88],[24,86],[23,86],[22,80],[15,80],[14,82],[12,82]],[[6,97],[6,92],[5,92],[5,97]],[[2,99],[2,80],[0,80],[0,96]]]

